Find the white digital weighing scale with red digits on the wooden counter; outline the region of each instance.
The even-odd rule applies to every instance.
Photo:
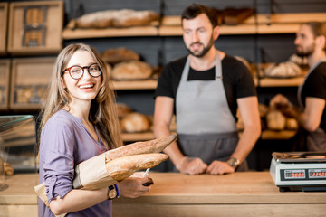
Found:
[[[326,153],[273,152],[270,174],[280,192],[326,191]]]

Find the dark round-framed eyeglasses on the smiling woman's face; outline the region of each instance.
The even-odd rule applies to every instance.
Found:
[[[87,71],[90,73],[90,75],[94,78],[97,78],[101,75],[101,67],[97,63],[93,63],[90,66],[71,66],[67,69],[65,69],[62,74],[65,71],[69,71],[70,76],[74,80],[79,80],[82,78],[84,70],[87,69]]]

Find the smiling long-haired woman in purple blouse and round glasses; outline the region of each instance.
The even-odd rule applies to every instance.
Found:
[[[122,146],[115,95],[105,63],[90,45],[67,46],[57,57],[40,124],[40,183],[51,210],[39,202],[39,216],[111,216],[111,191],[138,197],[148,177],[133,175],[96,191],[72,189],[74,166]],[[116,195],[113,193],[113,195]]]

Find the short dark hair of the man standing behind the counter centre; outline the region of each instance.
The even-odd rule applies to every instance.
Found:
[[[181,14],[181,24],[183,19],[191,20],[196,18],[199,14],[206,14],[210,23],[213,25],[213,28],[217,26],[217,16],[215,10],[206,5],[199,4],[187,6],[187,8]]]

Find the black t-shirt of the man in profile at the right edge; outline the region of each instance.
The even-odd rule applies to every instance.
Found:
[[[303,107],[307,97],[326,100],[326,62],[319,64],[305,80],[301,94]],[[320,127],[326,131],[326,109],[322,112]]]

